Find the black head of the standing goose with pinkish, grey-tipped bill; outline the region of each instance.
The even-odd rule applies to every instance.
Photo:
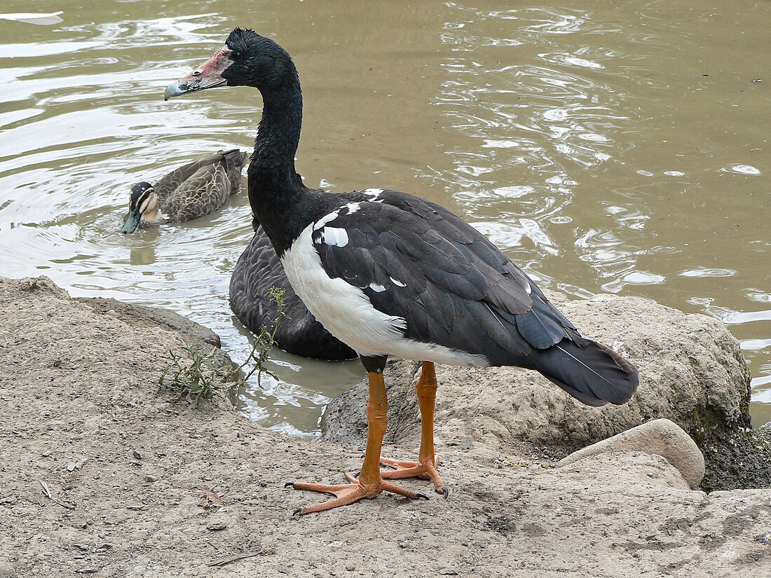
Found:
[[[172,82],[163,99],[223,85],[278,89],[287,79],[296,78],[295,65],[281,46],[254,30],[237,28],[210,59]]]

